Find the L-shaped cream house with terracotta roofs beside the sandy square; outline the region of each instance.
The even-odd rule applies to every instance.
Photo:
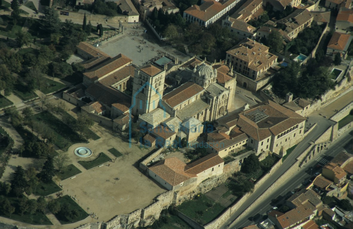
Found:
[[[223,159],[217,154],[209,154],[189,164],[172,157],[150,166],[148,174],[167,190],[187,192],[202,181],[221,175],[223,164]]]

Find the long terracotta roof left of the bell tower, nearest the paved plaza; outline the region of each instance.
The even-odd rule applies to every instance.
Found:
[[[104,61],[102,64],[95,68],[92,68],[90,72],[85,72],[83,75],[90,79],[99,79],[104,75],[107,75],[114,70],[121,68],[127,64],[130,64],[132,60],[123,54],[119,54],[114,58]]]

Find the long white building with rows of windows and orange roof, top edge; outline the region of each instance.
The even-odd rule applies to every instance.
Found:
[[[240,0],[207,0],[201,5],[192,5],[184,11],[183,18],[189,23],[197,22],[201,26],[209,27],[211,24],[232,12]]]

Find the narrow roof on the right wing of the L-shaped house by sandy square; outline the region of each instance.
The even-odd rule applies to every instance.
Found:
[[[212,168],[222,163],[224,163],[224,160],[220,156],[218,156],[218,154],[209,154],[200,158],[197,161],[186,165],[184,168],[184,172],[197,175],[209,168]]]

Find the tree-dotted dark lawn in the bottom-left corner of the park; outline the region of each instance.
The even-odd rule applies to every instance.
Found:
[[[4,199],[4,196],[0,196],[0,201]],[[18,209],[18,203],[20,199],[17,199],[17,197],[6,197],[8,200],[10,200],[10,203],[12,206],[16,208],[15,212],[11,215],[11,219],[23,222],[23,223],[29,223],[33,225],[53,225],[52,222],[47,218],[46,215],[44,215],[41,212],[36,212],[34,214],[29,214],[27,212],[23,213],[23,216],[21,215],[21,212]],[[22,198],[27,198],[27,197],[22,197]],[[0,216],[5,217],[5,218],[10,218],[10,214],[1,212],[0,209]]]

